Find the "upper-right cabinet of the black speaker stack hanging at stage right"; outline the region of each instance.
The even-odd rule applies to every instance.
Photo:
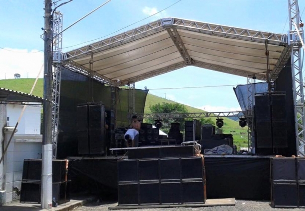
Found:
[[[271,94],[272,121],[286,121],[286,94]]]

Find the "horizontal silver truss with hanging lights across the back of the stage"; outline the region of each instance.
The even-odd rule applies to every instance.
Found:
[[[128,114],[131,119],[133,113]],[[225,111],[225,112],[202,112],[202,113],[163,113],[163,114],[137,114],[138,119],[178,119],[178,118],[219,118],[219,117],[247,117],[253,115],[252,111]]]

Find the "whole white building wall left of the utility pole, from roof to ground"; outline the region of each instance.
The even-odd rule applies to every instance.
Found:
[[[6,104],[4,106],[6,107],[6,111],[3,109],[1,110],[0,107],[0,119],[3,119],[5,121],[4,123],[7,124],[7,127],[5,127],[4,130],[4,141],[2,142],[4,143],[4,146],[6,146],[12,134],[12,130],[21,114],[23,106],[13,104]],[[2,181],[3,188],[5,191],[5,203],[9,203],[14,200],[19,200],[18,193],[21,190],[23,160],[41,158],[41,109],[42,107],[39,105],[28,106],[25,109],[23,117],[20,123],[18,124],[17,132],[14,134],[7,148],[7,152],[4,155],[3,168],[1,168],[0,166],[0,177],[2,175],[2,179],[0,179],[0,184]],[[5,113],[3,113],[3,111],[5,111]],[[8,121],[6,117],[9,117]]]

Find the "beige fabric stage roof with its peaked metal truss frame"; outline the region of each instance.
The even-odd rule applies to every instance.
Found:
[[[266,47],[275,80],[290,58],[287,35],[162,18],[67,52],[63,65],[117,86],[186,66],[265,80]]]

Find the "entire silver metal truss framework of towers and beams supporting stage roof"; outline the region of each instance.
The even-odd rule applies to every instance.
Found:
[[[62,34],[63,29],[63,15],[61,12],[54,12],[53,22],[53,93],[52,93],[52,141],[53,141],[53,157],[56,158],[57,154],[57,136],[58,136],[58,120],[59,120],[59,107],[60,107],[60,81],[61,81],[61,69],[67,68],[69,70],[78,72],[85,76],[91,77],[101,83],[105,83],[112,87],[119,87],[128,85],[128,118],[134,114],[135,108],[135,82],[144,80],[159,74],[163,74],[172,70],[177,70],[189,65],[200,67],[209,70],[217,70],[226,72],[229,74],[240,75],[248,78],[248,105],[251,105],[247,111],[241,112],[203,112],[203,113],[184,113],[184,114],[136,114],[139,119],[143,118],[205,118],[205,117],[229,117],[235,116],[239,118],[247,118],[248,120],[248,138],[250,141],[251,132],[253,130],[253,86],[252,78],[266,80],[266,75],[261,73],[247,72],[243,70],[234,69],[231,67],[224,67],[216,64],[208,64],[198,60],[193,60],[184,46],[179,30],[187,30],[194,33],[200,33],[205,35],[213,35],[224,38],[232,38],[242,41],[253,41],[258,43],[266,43],[269,45],[285,46],[284,50],[275,65],[270,70],[271,81],[274,82],[280,71],[283,69],[287,61],[291,56],[292,74],[294,78],[293,91],[294,91],[294,106],[296,117],[296,141],[298,146],[298,154],[305,156],[305,109],[304,109],[304,87],[302,76],[302,61],[301,61],[301,39],[303,39],[303,29],[300,28],[300,14],[298,7],[298,0],[288,0],[289,3],[289,17],[290,17],[290,31],[287,35],[260,32],[248,29],[241,29],[236,27],[229,27],[224,25],[203,23],[199,21],[186,20],[181,18],[162,18],[152,23],[140,26],[133,30],[121,33],[119,35],[109,37],[105,40],[93,43],[86,47],[78,48],[74,51],[63,54],[62,53]],[[297,24],[296,29],[294,22]],[[131,41],[139,40],[143,37],[154,35],[162,30],[166,30],[169,37],[176,46],[183,61],[171,64],[166,67],[162,67],[150,72],[144,72],[137,74],[128,79],[118,80],[111,77],[106,77],[99,74],[96,71],[91,71],[88,68],[77,64],[74,59],[79,59],[83,55],[93,55],[95,53],[102,52],[103,50],[114,48]],[[301,37],[299,36],[301,35]],[[250,78],[251,75],[251,78]],[[116,110],[114,101],[116,100],[116,88],[111,90],[111,109]],[[116,113],[116,111],[115,111]]]

